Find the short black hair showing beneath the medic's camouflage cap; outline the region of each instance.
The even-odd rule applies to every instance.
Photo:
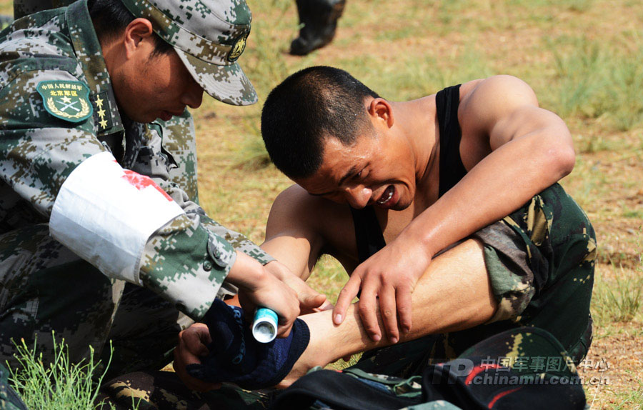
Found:
[[[131,14],[120,0],[89,0],[87,6],[99,39],[109,39],[121,34],[121,31],[135,18],[134,14]],[[154,51],[152,51],[150,59],[157,55],[167,54],[172,49],[174,47],[171,44],[154,33]]]

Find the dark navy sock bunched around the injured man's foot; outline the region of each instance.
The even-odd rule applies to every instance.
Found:
[[[204,381],[229,381],[244,389],[274,386],[286,377],[310,340],[306,322],[296,319],[288,337],[259,343],[244,320],[243,309],[216,299],[204,316],[212,343],[201,364],[188,373]]]

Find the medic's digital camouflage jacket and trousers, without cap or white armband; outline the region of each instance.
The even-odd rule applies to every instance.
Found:
[[[10,359],[12,337],[30,342],[36,334],[46,357],[52,330],[70,345],[74,361],[87,356],[89,345],[101,352],[119,318],[128,320],[124,301],[166,319],[163,326],[151,319],[155,314],[132,321],[149,337],[138,350],[117,346],[117,352],[163,356],[176,340],[169,334],[189,322],[179,311],[199,319],[214,297],[229,293],[222,284],[234,249],[264,264],[271,257],[198,205],[187,111],[151,124],[121,117],[85,0],[15,21],[0,35],[0,61],[0,361]],[[93,112],[86,120],[65,121],[46,109],[41,93],[73,99],[84,87]],[[146,244],[141,279],[160,295],[146,295],[148,305],[124,296],[124,282],[104,276],[49,236],[60,186],[84,159],[102,151],[111,151],[124,169],[150,176],[185,211]],[[191,286],[209,289],[207,297],[194,297]],[[154,328],[157,334],[148,333]]]

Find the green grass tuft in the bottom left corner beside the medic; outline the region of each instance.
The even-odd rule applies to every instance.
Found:
[[[25,344],[16,344],[18,369],[10,369],[9,381],[30,410],[89,410],[95,408],[99,386],[109,362],[102,370],[100,361],[94,361],[94,350],[88,361],[71,363],[64,339],[56,342],[54,334],[54,361],[45,364],[42,354]],[[110,346],[111,349],[111,346]],[[111,360],[111,356],[110,356]],[[110,405],[111,409],[114,409]],[[132,404],[132,409],[137,406]]]

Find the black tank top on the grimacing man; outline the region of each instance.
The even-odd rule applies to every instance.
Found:
[[[467,174],[467,169],[460,158],[460,139],[462,130],[458,122],[460,102],[460,84],[447,87],[435,96],[435,105],[440,132],[440,163],[438,197],[452,189]],[[357,256],[360,263],[369,256],[384,248],[382,228],[375,215],[373,206],[362,209],[351,208],[355,238],[357,239]]]

